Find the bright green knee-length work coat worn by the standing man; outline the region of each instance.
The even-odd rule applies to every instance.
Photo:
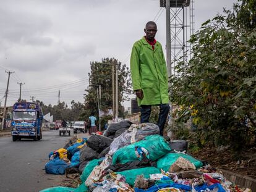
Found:
[[[156,41],[155,50],[143,37],[136,41],[130,56],[132,86],[143,90],[140,105],[168,104],[168,74],[161,44]]]

